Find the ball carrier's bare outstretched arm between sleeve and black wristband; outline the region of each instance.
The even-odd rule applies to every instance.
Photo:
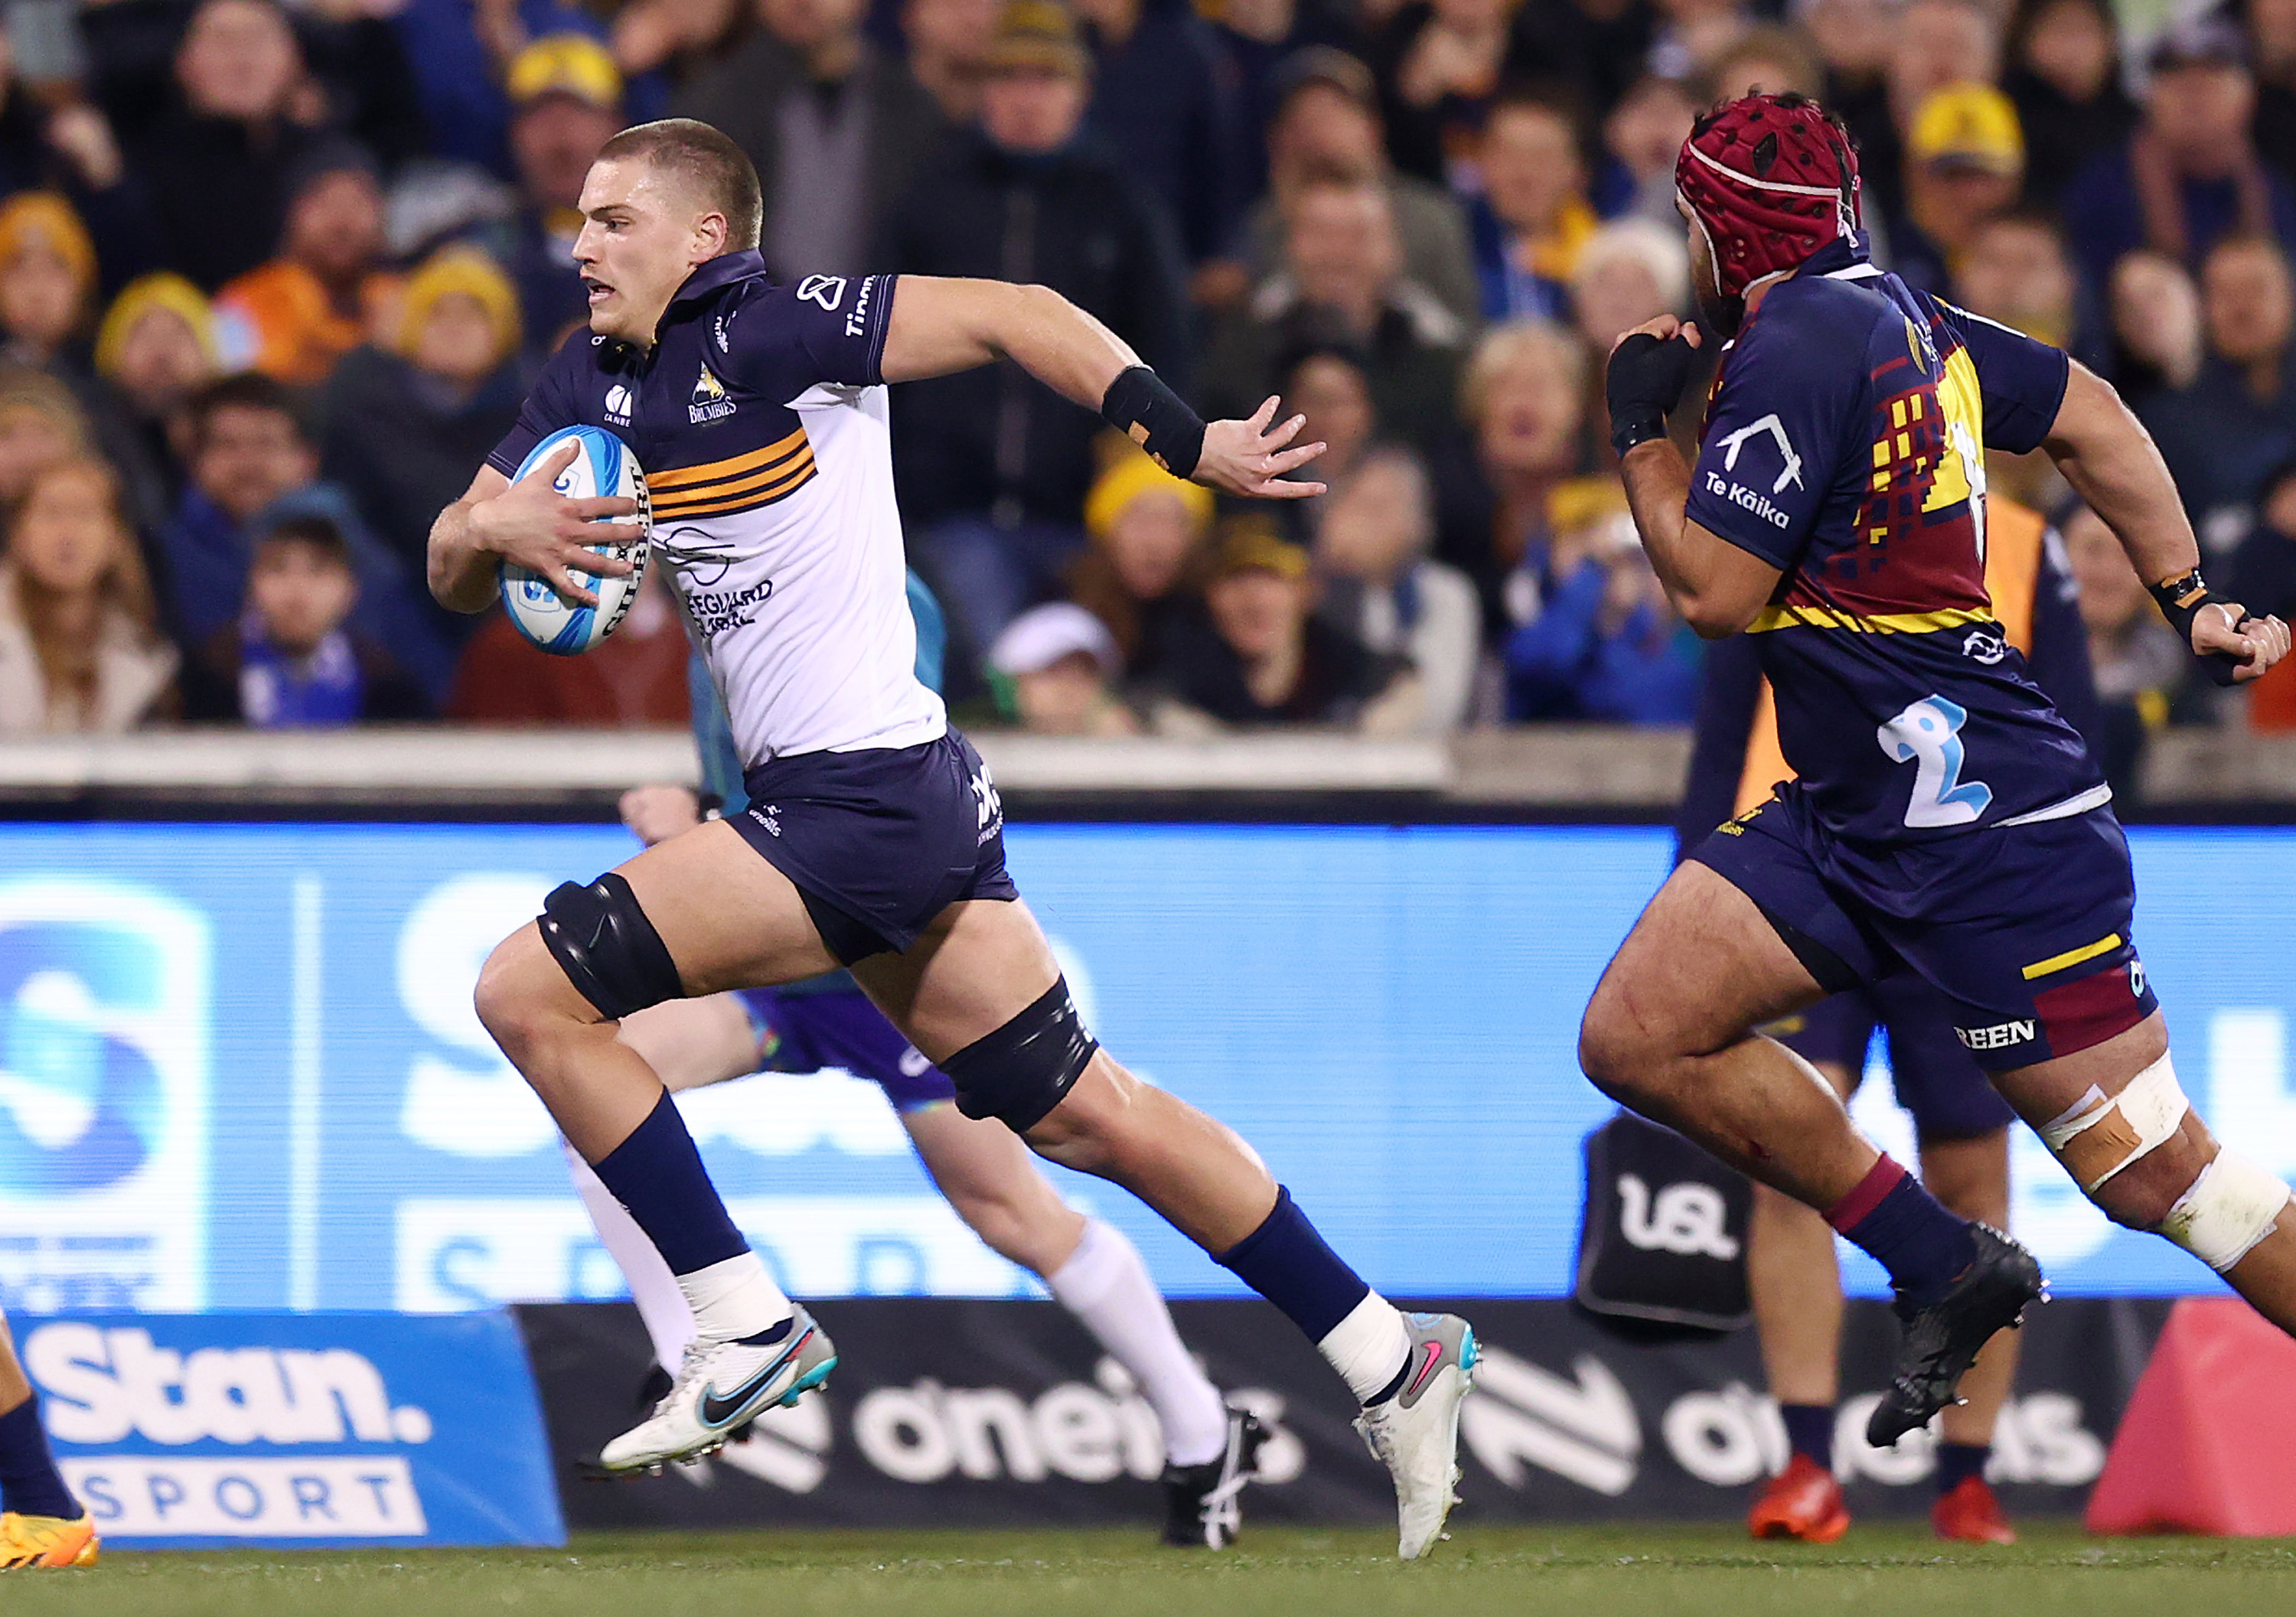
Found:
[[[1061,397],[1100,409],[1139,354],[1052,287],[902,276],[884,335],[884,379],[921,381],[1008,358]]]

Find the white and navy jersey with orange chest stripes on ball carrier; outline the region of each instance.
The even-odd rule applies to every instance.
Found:
[[[645,469],[666,565],[742,767],[916,746],[948,728],[916,678],[884,335],[893,276],[774,285],[755,253],[696,269],[654,347],[576,331],[487,464],[558,427],[618,434]]]

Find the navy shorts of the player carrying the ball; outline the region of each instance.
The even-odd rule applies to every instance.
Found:
[[[854,753],[790,753],[742,776],[732,827],[806,900],[843,962],[905,953],[962,898],[1019,898],[1003,864],[1003,806],[955,730]]]

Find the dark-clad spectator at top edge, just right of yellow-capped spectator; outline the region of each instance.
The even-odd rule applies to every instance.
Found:
[[[2020,0],[2002,90],[2025,131],[2025,195],[2041,207],[2055,207],[2073,175],[2138,124],[2108,0]]]

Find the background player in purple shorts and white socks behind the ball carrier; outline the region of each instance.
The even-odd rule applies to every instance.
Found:
[[[916,678],[939,689],[946,629],[939,602],[914,572],[909,609],[916,613]],[[691,675],[703,792],[684,786],[625,792],[622,820],[647,848],[700,825],[705,804],[709,813],[748,808],[732,733],[700,657]],[[884,1020],[850,974],[668,999],[625,1018],[622,1043],[647,1059],[670,1093],[760,1070],[843,1068],[877,1084],[957,1217],[994,1252],[1038,1275],[1054,1302],[1132,1371],[1164,1431],[1164,1544],[1224,1550],[1235,1541],[1240,1495],[1265,1442],[1261,1424],[1231,1410],[1205,1378],[1125,1233],[1061,1201],[1013,1130],[957,1112],[948,1077]],[[567,1162],[645,1318],[654,1362],[677,1364],[693,1339],[693,1312],[677,1277],[590,1165],[572,1148]]]

